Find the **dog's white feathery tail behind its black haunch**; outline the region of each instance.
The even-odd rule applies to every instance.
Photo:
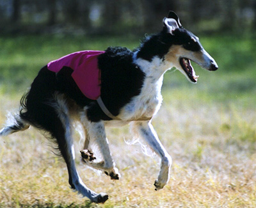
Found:
[[[29,124],[20,118],[19,115],[8,115],[6,127],[0,130],[0,136],[7,136],[17,131],[24,131],[29,128]]]

